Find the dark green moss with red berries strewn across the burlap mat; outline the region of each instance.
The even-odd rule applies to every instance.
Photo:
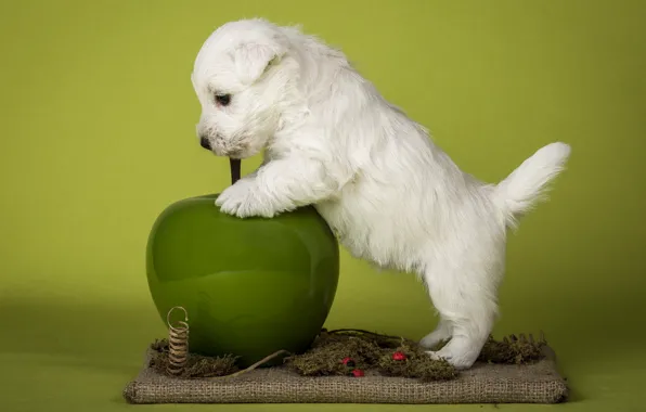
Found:
[[[437,345],[440,349],[445,343]],[[534,340],[525,335],[511,335],[502,340],[489,337],[478,358],[480,362],[502,364],[527,364],[543,358],[544,337]],[[168,342],[157,340],[152,346],[151,366],[168,375]],[[428,349],[416,342],[399,336],[389,336],[362,330],[322,330],[310,349],[303,353],[288,356],[285,366],[303,376],[351,376],[354,370],[373,372],[385,376],[401,376],[422,382],[447,381],[458,376],[444,360],[434,360]],[[236,357],[217,358],[191,353],[180,377],[225,376],[240,369]]]

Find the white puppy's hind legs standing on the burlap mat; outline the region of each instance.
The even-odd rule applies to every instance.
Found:
[[[438,262],[427,268],[424,278],[434,306],[442,322],[421,343],[437,344],[450,331],[449,343],[438,351],[428,351],[434,359],[444,359],[457,369],[468,369],[478,359],[496,318],[495,289],[498,273],[487,262],[469,260]],[[480,265],[477,265],[480,263]],[[489,262],[490,263],[490,262]],[[439,340],[438,340],[439,342]]]

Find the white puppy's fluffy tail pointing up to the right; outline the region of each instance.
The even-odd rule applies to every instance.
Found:
[[[518,218],[545,198],[550,182],[565,169],[569,156],[569,145],[560,142],[547,144],[495,186],[494,197],[508,227],[515,228]]]

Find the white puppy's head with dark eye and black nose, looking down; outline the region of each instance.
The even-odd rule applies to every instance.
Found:
[[[262,20],[219,27],[204,43],[191,80],[202,105],[197,138],[219,156],[245,158],[275,133],[289,75],[283,31]]]

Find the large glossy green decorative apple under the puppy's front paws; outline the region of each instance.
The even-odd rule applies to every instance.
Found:
[[[280,349],[306,350],[336,293],[336,237],[313,207],[240,219],[221,213],[217,196],[170,205],[151,231],[146,272],[164,322],[173,306],[184,307],[190,350],[233,353],[241,366]]]

